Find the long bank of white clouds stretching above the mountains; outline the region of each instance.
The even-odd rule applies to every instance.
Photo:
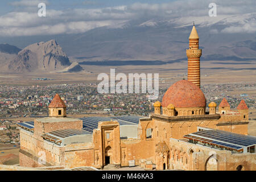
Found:
[[[170,3],[133,3],[129,6],[113,6],[96,9],[67,9],[53,10],[47,8],[46,17],[39,18],[34,6],[38,3],[48,1],[42,0],[21,0],[12,2],[11,5],[22,7],[19,11],[14,11],[0,16],[0,32],[2,36],[29,36],[29,35],[52,35],[52,34],[76,34],[88,31],[92,28],[101,26],[113,26],[131,19],[167,19],[172,22],[185,26],[191,24],[193,20],[201,26],[209,26],[218,22],[222,17],[232,14],[246,14],[254,12],[255,0],[246,2],[233,2],[232,0],[216,0],[217,17],[209,19],[209,3],[212,0],[182,0]],[[93,1],[92,1],[93,2]],[[89,4],[91,1],[84,1]],[[33,11],[28,11],[28,7]],[[36,9],[37,10],[37,9]],[[193,19],[191,19],[193,17]],[[179,18],[179,19],[175,19]],[[227,27],[221,32],[255,32],[253,19],[248,20],[247,24],[241,18],[241,22],[234,20],[232,27]],[[232,20],[229,20],[232,21]],[[255,18],[254,18],[255,21]],[[233,30],[236,27],[236,30]],[[218,31],[212,30],[212,34]]]

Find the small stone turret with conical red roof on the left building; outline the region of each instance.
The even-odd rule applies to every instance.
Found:
[[[59,94],[56,94],[48,106],[50,117],[67,117],[66,105],[60,98]]]

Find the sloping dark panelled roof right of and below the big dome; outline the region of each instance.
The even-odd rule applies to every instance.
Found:
[[[185,135],[184,137],[216,144],[222,147],[233,148],[234,150],[241,150],[243,147],[249,147],[256,144],[256,137],[230,133],[222,130],[202,130]]]

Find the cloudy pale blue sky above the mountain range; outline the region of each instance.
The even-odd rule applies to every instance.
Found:
[[[46,2],[46,17],[38,16],[38,3]],[[255,13],[255,0],[1,0],[1,36],[40,36],[79,34],[93,28],[120,27],[130,20],[173,20],[191,23],[191,19],[203,23],[209,19],[209,3],[217,4],[220,19],[237,15],[242,23],[246,14]],[[212,18],[211,20],[214,20]],[[239,29],[240,28],[240,29]],[[230,28],[232,30],[232,28]],[[237,30],[256,32],[251,19]]]

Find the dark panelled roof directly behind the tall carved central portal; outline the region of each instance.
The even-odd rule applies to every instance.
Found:
[[[117,120],[119,125],[138,125],[139,118],[141,117],[135,115],[125,115],[118,117],[84,117],[81,119],[83,130],[93,133],[93,129],[98,128],[98,122],[100,121]]]

